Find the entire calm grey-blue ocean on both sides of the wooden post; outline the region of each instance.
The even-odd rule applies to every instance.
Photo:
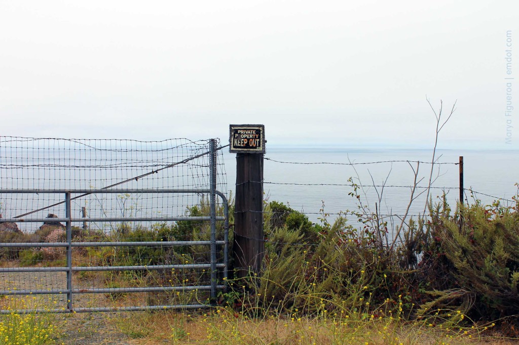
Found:
[[[0,140],[0,189],[100,189],[127,180],[115,189],[193,189],[209,187],[207,155],[187,164],[169,167],[207,151],[207,141],[169,139],[135,140],[33,139],[2,137]],[[519,151],[438,150],[433,167],[430,197],[439,202],[446,194],[455,208],[459,200],[459,156],[464,161],[465,202],[483,204],[500,200],[513,203],[519,182]],[[235,191],[236,154],[222,149],[217,156],[217,189]],[[264,198],[276,200],[319,222],[322,213],[333,221],[340,212],[359,207],[395,219],[424,213],[426,186],[431,173],[432,150],[365,150],[336,147],[267,147],[264,160]],[[417,163],[420,162],[420,163]],[[158,169],[158,170],[157,170]],[[156,170],[153,174],[150,171]],[[146,177],[135,177],[147,174]],[[354,185],[357,186],[355,194]],[[74,196],[74,195],[73,195]],[[48,213],[64,217],[61,194],[2,194],[0,213],[11,218],[38,210],[27,217]],[[81,217],[162,217],[184,215],[200,204],[197,194],[89,194],[73,199],[72,214]],[[57,204],[48,208],[48,206]],[[323,210],[323,211],[322,211]],[[349,217],[351,224],[356,217]],[[35,224],[21,224],[33,231]],[[92,224],[93,225],[93,224]],[[99,225],[114,228],[116,224]]]

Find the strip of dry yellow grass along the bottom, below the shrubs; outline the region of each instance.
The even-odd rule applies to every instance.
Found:
[[[196,313],[160,311],[119,315],[107,320],[125,343],[155,344],[518,344],[492,330],[491,326],[456,328],[429,326],[396,319],[349,320],[335,316],[249,317],[223,308]]]

